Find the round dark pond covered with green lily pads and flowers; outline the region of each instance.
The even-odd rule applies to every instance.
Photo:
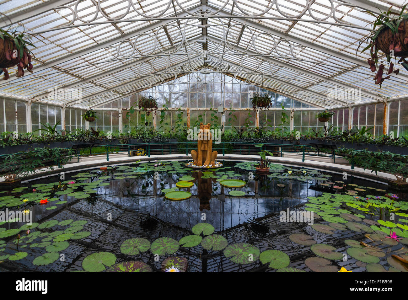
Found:
[[[281,164],[268,175],[255,162],[185,164],[111,165],[1,191],[0,210],[32,224],[0,222],[0,271],[408,271],[406,193]]]

